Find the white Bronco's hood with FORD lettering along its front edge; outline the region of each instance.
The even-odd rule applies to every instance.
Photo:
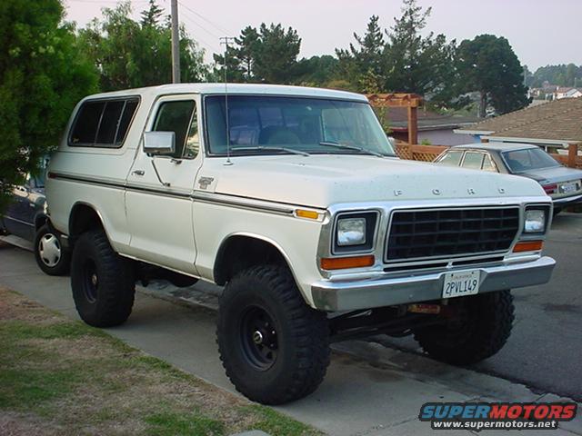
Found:
[[[335,203],[496,198],[546,193],[526,177],[368,155],[209,158],[216,193],[326,208]],[[197,186],[196,186],[197,187]]]

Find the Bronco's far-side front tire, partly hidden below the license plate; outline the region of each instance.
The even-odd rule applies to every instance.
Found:
[[[430,357],[453,365],[469,365],[503,348],[515,319],[511,292],[455,298],[449,304],[457,311],[455,318],[414,332],[416,342]]]

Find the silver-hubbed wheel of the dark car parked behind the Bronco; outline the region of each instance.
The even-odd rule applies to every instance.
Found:
[[[35,261],[48,275],[65,275],[69,272],[71,254],[63,248],[59,233],[45,223],[35,234]]]

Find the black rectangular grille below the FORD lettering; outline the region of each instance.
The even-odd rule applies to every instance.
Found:
[[[519,208],[396,211],[386,260],[421,260],[506,252],[519,230]]]

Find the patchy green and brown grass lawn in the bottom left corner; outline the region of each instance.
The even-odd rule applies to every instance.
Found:
[[[316,435],[0,288],[0,434]]]

